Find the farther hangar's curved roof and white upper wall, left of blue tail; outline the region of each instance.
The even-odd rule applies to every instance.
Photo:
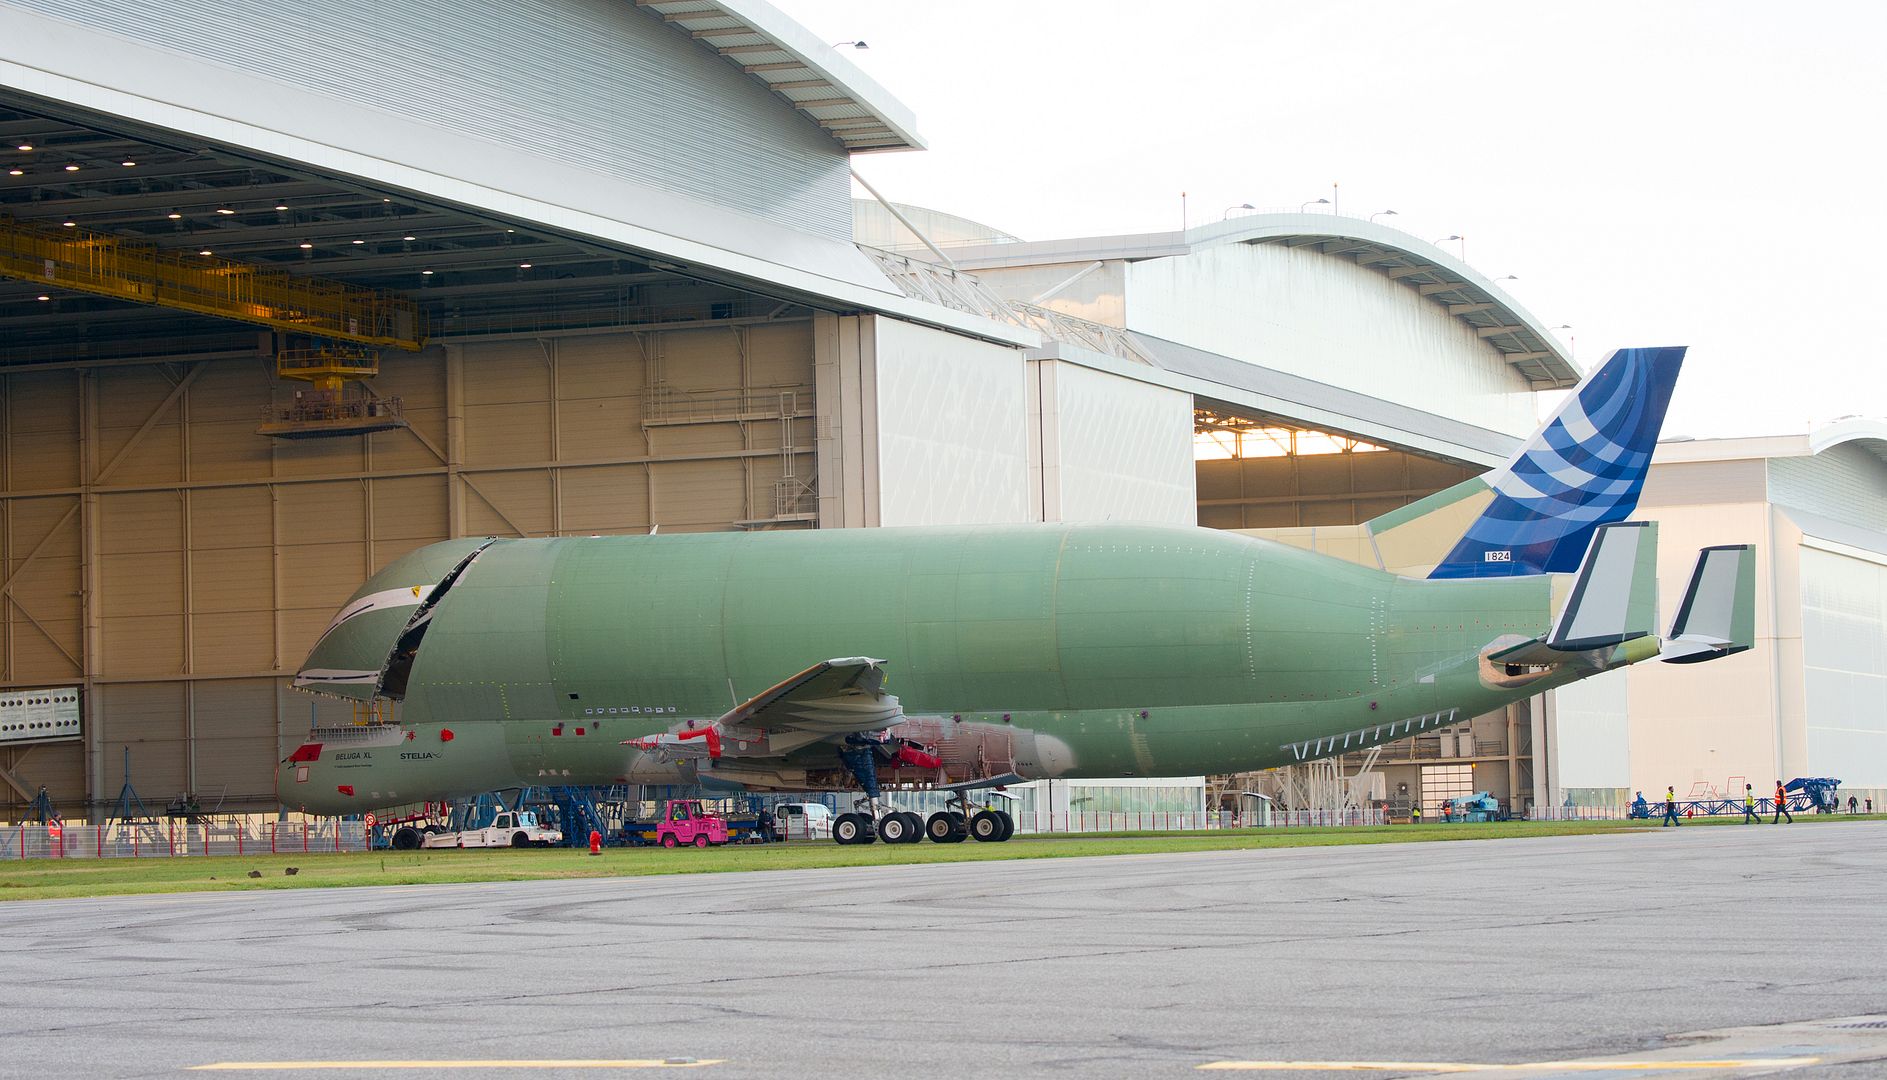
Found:
[[[1202,397],[1493,464],[1579,372],[1498,283],[1402,230],[1257,213],[953,247],[1002,296],[1127,330]],[[1051,346],[1053,347],[1053,346]]]

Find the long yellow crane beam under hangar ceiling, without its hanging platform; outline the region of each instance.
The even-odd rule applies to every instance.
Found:
[[[419,351],[426,344],[425,310],[392,293],[6,215],[0,276],[357,346]]]

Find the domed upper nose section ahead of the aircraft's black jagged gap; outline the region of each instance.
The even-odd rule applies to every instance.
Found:
[[[417,648],[413,623],[451,587],[491,540],[468,536],[428,544],[396,559],[342,606],[309,650],[294,687],[351,700],[379,693],[389,667],[409,665]],[[402,680],[404,685],[404,680]]]

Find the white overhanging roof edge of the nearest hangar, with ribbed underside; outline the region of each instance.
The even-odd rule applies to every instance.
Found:
[[[636,0],[783,96],[849,151],[925,149],[917,119],[843,53],[762,0]]]

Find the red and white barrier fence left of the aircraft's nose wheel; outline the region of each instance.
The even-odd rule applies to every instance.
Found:
[[[366,852],[359,821],[160,821],[143,825],[11,825],[4,859],[168,859]]]

